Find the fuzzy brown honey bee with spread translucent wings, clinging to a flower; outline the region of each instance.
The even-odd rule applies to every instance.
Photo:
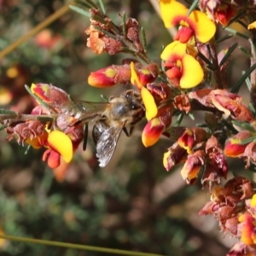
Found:
[[[126,90],[121,96],[110,97],[108,102],[79,102],[77,107],[80,111],[74,114],[75,121],[71,126],[82,122],[87,128],[88,123],[94,122],[92,138],[101,167],[111,160],[121,131],[127,137],[131,136],[134,125],[145,115],[141,95],[135,90]],[[130,131],[126,129],[127,125],[130,125]]]

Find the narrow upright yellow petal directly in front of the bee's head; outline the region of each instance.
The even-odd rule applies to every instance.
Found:
[[[157,107],[154,102],[154,96],[145,87],[141,90],[144,106],[146,108],[146,119],[153,119],[157,114]]]

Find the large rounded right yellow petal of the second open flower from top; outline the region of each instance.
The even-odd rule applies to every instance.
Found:
[[[191,55],[183,56],[183,76],[180,79],[180,87],[183,89],[193,88],[200,84],[204,78],[201,65]]]

